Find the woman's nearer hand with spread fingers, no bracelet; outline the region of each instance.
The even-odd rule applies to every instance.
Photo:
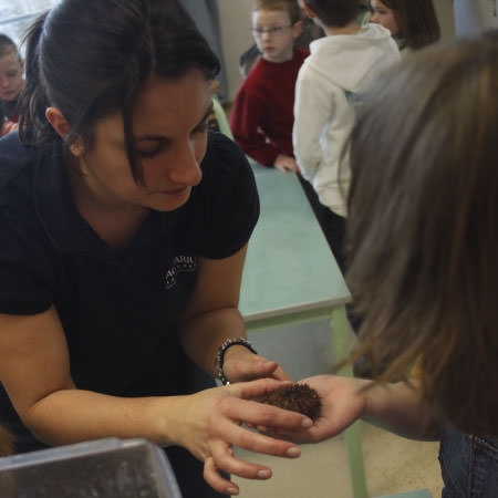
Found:
[[[282,385],[264,378],[231,384],[183,396],[174,421],[173,442],[204,460],[204,477],[217,491],[237,495],[236,484],[220,471],[249,479],[268,479],[271,469],[234,456],[232,446],[267,455],[295,458],[300,449],[293,443],[251,432],[242,423],[282,427],[289,434],[304,430],[312,422],[305,416],[251,401]]]

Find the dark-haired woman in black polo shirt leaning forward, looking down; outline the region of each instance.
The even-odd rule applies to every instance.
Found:
[[[221,473],[270,477],[232,445],[299,456],[241,427],[311,421],[250,401],[288,375],[237,310],[259,205],[243,154],[207,132],[217,71],[177,0],[62,0],[31,28],[19,136],[0,143],[0,422],[17,453],[144,437],[186,498],[237,494]],[[215,363],[236,384],[212,387]]]

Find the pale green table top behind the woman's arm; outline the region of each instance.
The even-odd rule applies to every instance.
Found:
[[[253,172],[261,215],[242,274],[246,322],[347,302],[350,291],[295,175],[257,164]]]

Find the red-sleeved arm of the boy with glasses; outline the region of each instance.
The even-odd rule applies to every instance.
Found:
[[[230,128],[237,144],[249,157],[270,167],[274,165],[280,151],[267,143],[259,126],[266,121],[264,114],[262,100],[242,86],[231,110]]]

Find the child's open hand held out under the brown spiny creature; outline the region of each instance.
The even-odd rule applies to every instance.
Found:
[[[317,375],[303,378],[300,384],[308,384],[322,400],[320,416],[312,427],[302,432],[278,429],[266,430],[269,434],[286,437],[294,443],[318,443],[335,436],[360,418],[366,409],[366,397],[362,387],[370,381],[341,377],[336,375]]]

